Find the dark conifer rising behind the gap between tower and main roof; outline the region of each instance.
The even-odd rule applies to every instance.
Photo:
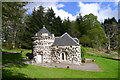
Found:
[[[64,29],[62,20],[59,16],[55,16],[54,10],[52,8],[48,8],[45,17],[46,27],[51,33],[54,33],[56,36],[63,34]]]

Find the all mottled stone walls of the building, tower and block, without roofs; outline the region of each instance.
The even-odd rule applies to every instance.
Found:
[[[33,38],[33,54],[39,63],[81,63],[80,46],[52,46],[54,37],[41,36]]]

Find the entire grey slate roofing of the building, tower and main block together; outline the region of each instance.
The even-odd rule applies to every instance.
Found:
[[[48,36],[52,34],[43,26],[43,28],[36,33],[35,36],[41,36],[42,33],[48,33]],[[53,43],[55,46],[79,46],[79,40],[77,38],[72,38],[68,33],[64,33],[61,37],[55,37]]]

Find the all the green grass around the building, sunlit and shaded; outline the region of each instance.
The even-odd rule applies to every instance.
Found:
[[[65,68],[45,68],[40,66],[28,65],[28,64],[15,64],[3,67],[3,78],[117,78],[118,77],[118,61],[103,58],[106,54],[86,48],[87,54],[85,58],[94,59],[103,72],[95,71],[81,71]],[[31,50],[23,49],[23,53],[16,54],[3,54],[3,64],[9,62],[24,61],[22,57],[26,57],[27,52]],[[21,50],[4,50],[7,52],[16,52]],[[89,53],[94,53],[91,55]],[[100,55],[100,53],[102,53]],[[108,56],[110,57],[110,56]],[[120,61],[119,61],[120,62]]]

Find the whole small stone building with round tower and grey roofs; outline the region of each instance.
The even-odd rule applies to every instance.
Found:
[[[46,28],[44,27],[43,29]],[[69,34],[67,33],[62,36],[59,37],[60,40],[57,40],[53,34],[50,34],[47,31],[41,30],[36,33],[36,36],[33,37],[33,55],[35,62],[80,64],[81,48],[79,42],[73,40],[71,37],[69,38]],[[67,41],[68,38],[69,40]],[[72,41],[74,41],[75,45]],[[66,45],[64,45],[63,42]]]

